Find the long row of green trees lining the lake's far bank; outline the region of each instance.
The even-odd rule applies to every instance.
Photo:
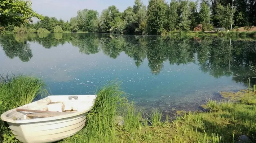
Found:
[[[256,0],[172,0],[170,3],[165,0],[149,0],[148,6],[141,0],[135,0],[134,5],[127,7],[124,12],[120,12],[116,6],[109,6],[101,14],[96,10],[84,9],[66,22],[45,16],[36,23],[25,24],[23,28],[27,29],[27,33],[86,31],[165,34],[169,31],[194,31],[198,27],[202,31],[210,31],[213,27],[229,30],[231,25],[256,25]],[[14,25],[5,28],[13,31]]]

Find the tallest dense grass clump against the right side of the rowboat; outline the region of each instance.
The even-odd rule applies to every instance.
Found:
[[[95,106],[87,114],[86,127],[70,138],[77,142],[114,142],[116,136],[115,116],[125,103],[124,94],[117,83],[109,83],[97,92]]]

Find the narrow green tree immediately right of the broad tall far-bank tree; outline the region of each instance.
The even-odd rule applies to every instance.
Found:
[[[168,26],[170,31],[174,31],[177,28],[179,22],[179,15],[177,13],[179,2],[172,0],[168,10]]]

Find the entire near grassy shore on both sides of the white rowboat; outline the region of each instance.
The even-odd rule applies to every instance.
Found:
[[[0,84],[1,112],[32,102],[40,93],[45,93],[45,84],[41,80],[26,76],[9,79],[11,80],[2,78]],[[246,135],[255,142],[255,93],[241,91],[221,94],[230,101],[210,100],[202,106],[207,112],[187,112],[171,121],[168,115],[165,120],[161,120],[163,115],[158,109],[148,114],[137,111],[135,105],[126,99],[120,84],[110,83],[97,91],[95,106],[87,114],[85,127],[73,137],[59,142],[222,143],[235,142],[241,135]],[[15,100],[10,100],[11,98]],[[4,134],[2,140],[15,140],[2,121],[1,133]]]

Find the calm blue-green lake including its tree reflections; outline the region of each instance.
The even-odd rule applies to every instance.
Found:
[[[115,80],[145,109],[195,110],[256,84],[256,41],[112,34],[1,35],[0,73],[45,80],[52,95],[87,95]]]

